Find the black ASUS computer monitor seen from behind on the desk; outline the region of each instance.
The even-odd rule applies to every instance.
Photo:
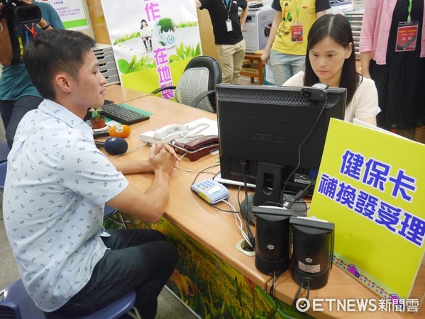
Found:
[[[330,118],[344,118],[346,89],[219,84],[216,99],[221,178],[255,184],[258,206],[259,191],[294,194],[315,179]]]

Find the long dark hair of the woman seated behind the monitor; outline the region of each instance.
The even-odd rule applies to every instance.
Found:
[[[318,18],[309,31],[307,38],[307,56],[306,56],[306,71],[304,76],[304,86],[312,86],[319,82],[319,77],[314,73],[311,67],[309,53],[312,47],[319,43],[324,38],[329,37],[343,47],[348,47],[353,43],[353,50],[350,57],[344,61],[339,87],[347,89],[347,105],[353,99],[355,90],[358,87],[361,75],[355,70],[355,54],[353,33],[351,26],[345,16],[342,14],[325,14]]]

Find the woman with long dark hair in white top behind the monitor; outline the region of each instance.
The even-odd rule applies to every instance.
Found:
[[[316,83],[347,89],[345,120],[357,118],[376,125],[380,112],[375,82],[355,70],[353,33],[341,14],[326,14],[311,26],[307,40],[305,72],[291,77],[284,86],[313,86]]]

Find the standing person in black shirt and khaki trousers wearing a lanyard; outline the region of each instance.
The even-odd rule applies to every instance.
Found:
[[[242,30],[248,16],[245,0],[196,0],[197,8],[206,9],[211,17],[222,82],[239,84],[245,57]],[[241,18],[238,9],[242,8]]]

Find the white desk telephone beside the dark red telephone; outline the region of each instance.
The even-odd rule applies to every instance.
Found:
[[[170,124],[165,125],[162,128],[156,130],[150,130],[143,134],[140,134],[139,140],[147,144],[153,144],[156,142],[170,142],[175,138],[192,137],[197,135],[202,130],[209,128],[209,123],[197,123],[197,124]]]

